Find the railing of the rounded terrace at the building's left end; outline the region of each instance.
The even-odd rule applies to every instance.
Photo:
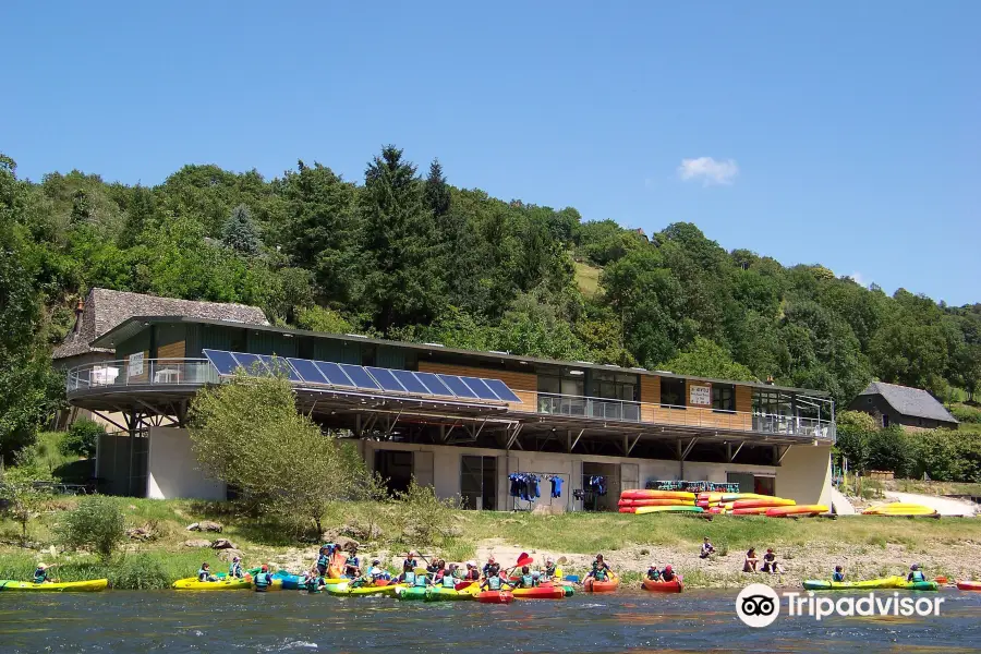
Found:
[[[144,359],[100,361],[75,366],[68,373],[69,393],[120,386],[175,386],[218,383],[207,359]]]

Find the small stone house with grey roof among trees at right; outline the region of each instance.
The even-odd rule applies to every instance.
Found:
[[[872,382],[848,405],[851,411],[873,415],[883,427],[900,425],[905,429],[957,428],[957,419],[921,388]]]

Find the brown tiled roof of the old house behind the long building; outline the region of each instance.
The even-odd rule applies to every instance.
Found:
[[[92,289],[88,298],[85,299],[81,326],[77,331],[73,329],[55,350],[55,359],[76,356],[87,352],[111,352],[112,350],[105,348],[93,348],[88,343],[134,316],[187,316],[246,325],[269,324],[261,308],[245,304],[196,302],[108,289]]]

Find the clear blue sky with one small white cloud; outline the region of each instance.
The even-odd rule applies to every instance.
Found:
[[[605,4],[605,7],[604,7]],[[504,199],[981,301],[981,3],[0,5],[19,175],[362,180],[383,145]]]

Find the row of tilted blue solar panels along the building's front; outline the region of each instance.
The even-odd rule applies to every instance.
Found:
[[[286,375],[298,384],[318,384],[364,391],[437,396],[461,400],[521,402],[500,379],[416,373],[310,359],[272,358],[226,350],[204,350],[204,355],[221,376],[243,368],[246,374]]]

